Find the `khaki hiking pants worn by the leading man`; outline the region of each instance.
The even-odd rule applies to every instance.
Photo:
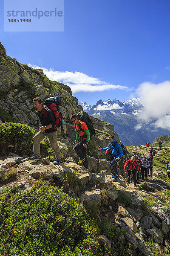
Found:
[[[45,137],[48,137],[50,141],[51,148],[54,150],[57,159],[61,158],[61,152],[57,143],[57,131],[46,133],[44,131],[38,131],[33,137],[33,150],[34,155],[37,158],[41,158],[40,154],[40,141],[42,141]]]

